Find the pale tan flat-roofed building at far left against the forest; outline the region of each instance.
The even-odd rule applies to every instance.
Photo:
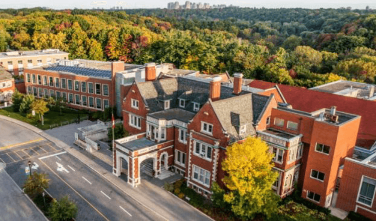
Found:
[[[61,59],[68,59],[68,55],[69,53],[59,49],[1,52],[0,66],[14,75],[21,75],[25,68],[53,64]]]

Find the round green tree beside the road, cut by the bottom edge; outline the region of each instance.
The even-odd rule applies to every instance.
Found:
[[[54,200],[48,211],[52,221],[66,221],[75,218],[78,212],[76,203],[64,196],[59,200]]]

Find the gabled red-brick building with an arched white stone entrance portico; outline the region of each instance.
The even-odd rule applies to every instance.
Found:
[[[151,77],[147,77],[151,72]],[[339,165],[352,155],[360,116],[320,108],[291,108],[278,86],[257,89],[221,77],[183,76],[156,80],[146,68],[143,83],[134,82],[123,99],[124,128],[133,134],[115,142],[113,173],[127,173],[140,183],[139,171],[151,159],[154,176],[168,167],[187,185],[211,194],[213,181],[222,184],[226,147],[258,136],[275,153],[280,173],[272,189],[285,197],[294,183],[303,198],[329,206]],[[333,167],[331,167],[333,165]]]

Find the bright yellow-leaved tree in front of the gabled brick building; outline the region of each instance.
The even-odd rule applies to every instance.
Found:
[[[229,191],[224,201],[243,219],[252,219],[257,213],[270,216],[277,209],[279,197],[271,190],[278,173],[272,170],[273,154],[268,145],[250,137],[228,147],[226,155],[222,168],[228,175],[223,182]]]

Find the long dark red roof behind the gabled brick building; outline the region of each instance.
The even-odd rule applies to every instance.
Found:
[[[253,80],[250,87],[266,89],[276,83]],[[337,110],[350,114],[360,115],[360,126],[356,146],[369,149],[376,141],[376,101],[347,97],[332,93],[309,90],[278,84],[283,96],[294,109],[304,112],[317,111],[320,108],[337,106]]]

